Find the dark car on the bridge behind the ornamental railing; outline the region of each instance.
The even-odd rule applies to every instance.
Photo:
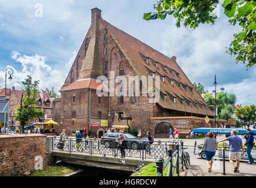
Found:
[[[101,137],[100,143],[105,147],[117,147],[116,139],[119,137],[120,133],[106,133]],[[123,133],[126,138],[126,147],[129,149],[146,149],[146,140],[137,138],[129,133]]]

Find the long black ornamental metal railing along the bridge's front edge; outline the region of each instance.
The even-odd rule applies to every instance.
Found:
[[[60,140],[58,136],[51,137],[51,152],[83,153],[86,155],[101,155],[120,157],[120,146],[116,140],[86,139],[82,138],[77,142],[76,138],[65,137]],[[146,145],[146,141],[126,141],[125,157],[136,157],[145,159],[168,159],[168,149],[175,149],[179,142],[157,142]],[[149,150],[150,147],[150,150]],[[181,155],[181,154],[180,154]],[[179,156],[179,155],[178,155]]]

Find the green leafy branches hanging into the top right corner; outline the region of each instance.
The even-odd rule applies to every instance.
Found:
[[[218,0],[161,0],[154,5],[156,12],[144,14],[143,19],[165,19],[173,15],[177,28],[180,24],[196,29],[199,24],[215,24]],[[234,34],[227,51],[237,56],[235,63],[247,63],[247,69],[256,63],[256,2],[251,0],[225,0],[222,4],[229,24],[239,25],[242,31]]]

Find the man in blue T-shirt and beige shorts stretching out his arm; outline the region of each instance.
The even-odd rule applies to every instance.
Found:
[[[239,164],[241,160],[241,149],[242,149],[242,155],[244,155],[244,146],[242,145],[242,139],[237,136],[237,130],[231,131],[231,136],[219,140],[217,142],[217,145],[219,142],[229,142],[229,162],[234,167],[234,173],[239,173]],[[236,161],[236,164],[234,163],[234,160]]]

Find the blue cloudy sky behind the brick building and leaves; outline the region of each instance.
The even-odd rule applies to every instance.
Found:
[[[42,17],[37,17],[38,3]],[[256,104],[256,70],[235,64],[225,52],[239,26],[228,24],[219,8],[215,25],[200,25],[196,30],[176,28],[172,16],[164,21],[145,21],[143,14],[154,11],[156,0],[55,0],[0,1],[0,88],[5,85],[5,69],[14,68],[8,81],[21,89],[27,75],[40,80],[40,89],[59,90],[76,58],[91,24],[91,9],[99,8],[102,17],[157,51],[177,62],[191,82],[217,92],[221,87],[237,95],[237,103]]]

